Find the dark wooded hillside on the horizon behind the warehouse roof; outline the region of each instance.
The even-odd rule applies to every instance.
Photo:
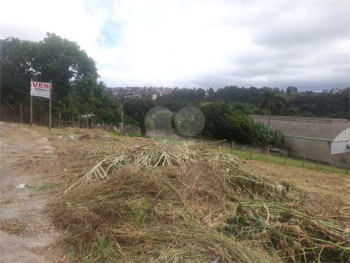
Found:
[[[246,115],[267,115],[259,108],[261,97],[259,94],[264,88],[239,88],[237,86],[227,86],[218,88],[217,91],[209,92],[205,97],[201,88],[196,90],[174,90],[170,94],[157,97],[157,105],[167,107],[171,111],[178,111],[186,105],[198,106],[202,103],[221,102],[227,103],[231,107],[241,108]],[[297,92],[296,87],[283,89],[270,88],[283,96],[283,108],[272,110],[271,115],[294,116],[294,117],[329,117],[349,119],[350,109],[350,89],[332,88],[323,90],[321,93],[314,93],[312,90]],[[204,90],[203,90],[204,91]],[[145,96],[147,97],[147,96]],[[242,104],[237,104],[242,103]]]

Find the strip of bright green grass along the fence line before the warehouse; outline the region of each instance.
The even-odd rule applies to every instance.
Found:
[[[112,133],[116,136],[123,136],[120,133],[116,133],[116,132],[112,132]],[[135,135],[132,135],[132,137],[141,137],[141,134],[136,133]],[[149,137],[147,137],[147,138],[149,138]],[[165,141],[165,143],[167,145],[174,144],[174,140],[164,138],[164,137],[155,137],[154,140],[158,143]],[[175,141],[175,145],[183,145],[183,141],[177,139]],[[231,153],[231,149],[227,148],[227,147],[222,147],[222,151],[226,152],[226,153]],[[250,151],[233,150],[232,154],[238,155],[246,160],[250,160]],[[253,152],[252,156],[251,156],[251,160],[259,161],[259,162],[266,162],[266,154]],[[287,161],[286,161],[286,166],[302,168],[303,161],[304,160],[302,158],[288,156]],[[271,155],[269,155],[268,162],[271,164],[277,164],[277,165],[284,166],[285,157],[284,156],[271,156]],[[305,160],[304,169],[316,171],[317,170],[317,161]],[[346,174],[347,173],[346,169],[334,167],[334,170],[333,170],[333,167],[331,165],[321,163],[321,162],[319,162],[318,171],[327,171],[329,173],[333,172],[333,173],[338,173],[338,174]],[[349,171],[348,171],[348,173],[349,173]]]

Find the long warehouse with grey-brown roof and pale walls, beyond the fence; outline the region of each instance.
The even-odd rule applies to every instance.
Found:
[[[268,116],[249,117],[268,124]],[[271,116],[270,129],[283,132],[284,147],[297,157],[305,155],[307,159],[349,167],[350,122],[347,119]],[[347,161],[337,159],[344,157]]]

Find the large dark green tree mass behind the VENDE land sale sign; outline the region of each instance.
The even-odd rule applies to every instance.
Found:
[[[98,82],[96,62],[80,46],[54,33],[39,42],[8,37],[1,40],[1,104],[29,107],[30,79],[51,82],[53,115],[98,114],[96,121],[116,126],[120,104]],[[33,100],[34,112],[48,112],[49,101]]]

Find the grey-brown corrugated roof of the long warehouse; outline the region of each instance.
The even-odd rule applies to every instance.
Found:
[[[250,115],[255,121],[268,124],[268,116]],[[316,138],[333,141],[343,130],[350,126],[347,119],[307,118],[271,116],[270,129],[281,130],[285,136]]]

